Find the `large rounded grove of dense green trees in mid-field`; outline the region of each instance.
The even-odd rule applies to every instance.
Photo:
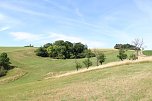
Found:
[[[37,56],[54,59],[77,59],[86,57],[88,50],[87,45],[80,42],[71,43],[69,41],[58,40],[39,47],[35,53]],[[94,57],[95,54],[90,52],[90,56]]]

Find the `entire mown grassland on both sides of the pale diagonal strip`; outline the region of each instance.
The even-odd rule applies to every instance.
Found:
[[[6,79],[25,73],[9,83],[0,84],[0,101],[151,101],[152,62],[104,68],[67,77],[45,80],[49,72],[76,70],[74,60],[37,57],[35,48],[0,48],[12,65]],[[117,50],[102,49],[107,61],[119,61]],[[128,51],[128,54],[132,52]],[[83,59],[79,59],[80,62]],[[95,65],[95,58],[92,58]],[[84,67],[83,67],[84,68]]]

